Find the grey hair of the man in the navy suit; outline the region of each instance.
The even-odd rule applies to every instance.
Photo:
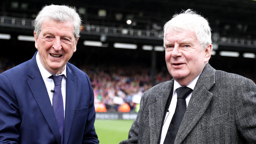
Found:
[[[59,6],[59,5],[50,5],[44,6],[41,11],[39,11],[37,17],[34,21],[34,32],[37,34],[37,37],[42,29],[42,23],[45,20],[54,20],[60,22],[70,21],[73,24],[73,33],[75,39],[79,37],[80,27],[82,20],[75,9],[70,6]]]

